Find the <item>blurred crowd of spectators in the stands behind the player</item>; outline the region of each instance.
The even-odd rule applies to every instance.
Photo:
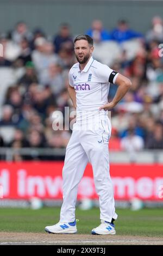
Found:
[[[95,20],[83,31],[95,41],[94,57],[121,72],[133,83],[130,92],[111,111],[110,150],[163,149],[163,21],[155,16],[141,34],[119,20],[108,31]],[[65,148],[71,130],[53,130],[54,111],[73,111],[67,93],[68,71],[76,63],[71,28],[64,23],[47,35],[30,31],[23,21],[0,34],[0,145],[10,148]],[[163,47],[163,45],[162,45]],[[2,50],[2,49],[1,49]],[[161,54],[162,52],[162,54]],[[2,54],[1,54],[2,55]],[[108,101],[117,86],[110,85]],[[71,121],[71,119],[70,119]],[[57,125],[57,124],[54,124]],[[15,161],[43,159],[32,154],[14,155]],[[60,156],[44,159],[61,159]]]

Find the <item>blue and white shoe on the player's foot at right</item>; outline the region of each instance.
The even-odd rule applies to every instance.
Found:
[[[97,228],[92,229],[92,235],[115,235],[114,224],[101,220],[101,224]]]

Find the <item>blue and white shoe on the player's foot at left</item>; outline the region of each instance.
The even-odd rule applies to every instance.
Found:
[[[76,234],[77,225],[74,222],[58,222],[55,225],[45,227],[45,231],[53,234]]]

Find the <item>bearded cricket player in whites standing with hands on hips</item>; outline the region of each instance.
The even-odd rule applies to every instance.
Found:
[[[108,110],[114,108],[131,86],[128,78],[92,58],[93,39],[78,35],[74,39],[74,52],[78,63],[69,72],[68,92],[77,110],[71,139],[67,145],[63,177],[63,203],[60,221],[45,230],[54,234],[77,233],[75,209],[78,184],[88,162],[93,169],[96,192],[99,196],[101,224],[92,234],[116,234],[117,219],[112,182],[109,174],[108,143],[111,123]],[[109,84],[118,89],[108,103]]]

